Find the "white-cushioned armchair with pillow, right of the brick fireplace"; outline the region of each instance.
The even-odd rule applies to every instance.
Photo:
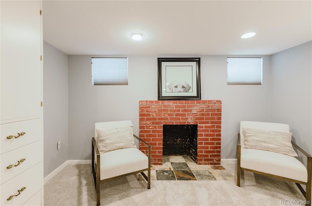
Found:
[[[292,146],[307,157],[307,167],[296,158]],[[289,125],[241,121],[237,141],[238,187],[242,171],[294,182],[305,196],[306,205],[311,206],[312,156],[292,141]]]

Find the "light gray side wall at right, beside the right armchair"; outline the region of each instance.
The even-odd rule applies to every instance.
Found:
[[[290,125],[294,141],[312,154],[312,41],[271,57],[270,120]]]

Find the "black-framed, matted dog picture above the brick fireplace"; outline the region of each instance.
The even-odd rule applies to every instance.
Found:
[[[158,100],[200,100],[200,58],[158,58]]]

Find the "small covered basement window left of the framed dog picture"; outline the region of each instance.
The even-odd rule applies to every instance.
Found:
[[[93,85],[128,85],[127,57],[92,57]]]

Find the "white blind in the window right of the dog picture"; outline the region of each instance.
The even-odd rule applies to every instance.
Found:
[[[228,57],[228,85],[262,85],[262,58]]]

